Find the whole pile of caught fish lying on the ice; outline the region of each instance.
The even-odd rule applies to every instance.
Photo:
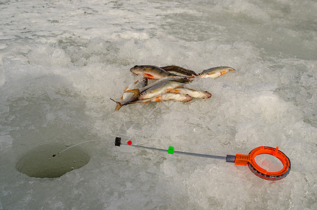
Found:
[[[228,71],[234,71],[228,66],[218,66],[206,69],[202,73],[195,73],[190,69],[181,66],[134,66],[130,69],[132,73],[139,76],[138,80],[130,84],[123,91],[123,95],[117,103],[115,111],[127,104],[161,102],[175,100],[188,102],[192,98],[207,99],[211,94],[207,91],[192,90],[184,87],[185,84],[192,82],[195,77],[216,78]]]

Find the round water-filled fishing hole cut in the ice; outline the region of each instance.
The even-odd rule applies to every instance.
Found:
[[[90,156],[78,146],[54,157],[52,156],[52,154],[57,154],[65,148],[67,146],[64,144],[37,146],[24,154],[15,168],[18,172],[31,177],[57,178],[67,172],[83,167],[90,161]]]

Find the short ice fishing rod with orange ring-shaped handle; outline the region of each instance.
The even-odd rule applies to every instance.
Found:
[[[226,156],[219,156],[219,155],[206,155],[200,153],[188,153],[182,151],[175,151],[173,146],[169,146],[168,149],[162,148],[152,148],[148,146],[140,146],[140,145],[132,145],[132,141],[127,141],[127,143],[121,142],[121,137],[115,137],[115,146],[133,146],[135,148],[144,148],[153,151],[161,151],[167,152],[169,154],[180,154],[180,155],[191,155],[201,158],[213,158],[213,159],[220,159],[225,160],[226,162],[234,162],[234,165],[244,165],[248,166],[253,174],[256,176],[276,181],[285,178],[290,173],[290,159],[282,152],[279,151],[279,147],[272,148],[270,146],[259,146],[254,148],[248,155],[244,154],[236,154],[236,155],[226,155]],[[283,165],[283,169],[279,170],[278,172],[267,172],[266,169],[263,169],[255,162],[255,157],[258,155],[272,155],[275,158],[279,159]]]

